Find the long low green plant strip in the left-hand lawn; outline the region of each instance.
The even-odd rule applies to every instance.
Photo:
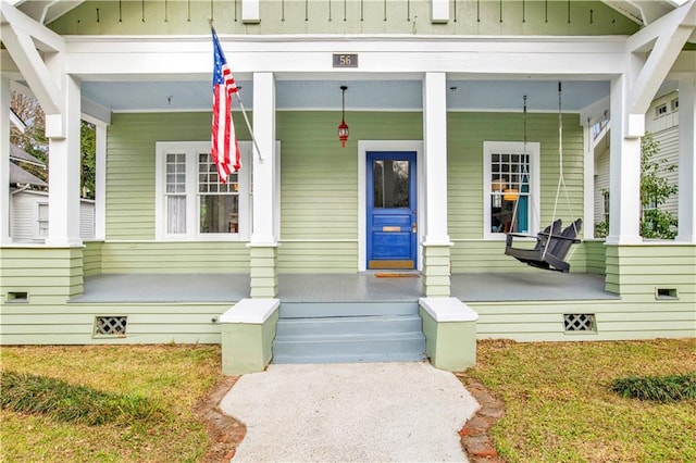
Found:
[[[47,376],[2,372],[2,409],[41,413],[63,422],[101,425],[161,420],[164,414],[147,399],[111,395]]]

